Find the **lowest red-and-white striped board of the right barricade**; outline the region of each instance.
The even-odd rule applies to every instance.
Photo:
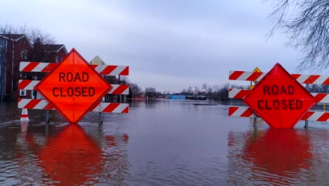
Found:
[[[228,107],[228,116],[233,117],[256,117],[259,118],[252,109],[247,106],[230,106]],[[307,111],[301,120],[328,121],[329,112]]]

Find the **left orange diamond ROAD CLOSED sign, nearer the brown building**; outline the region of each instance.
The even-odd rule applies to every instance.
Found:
[[[35,89],[69,123],[78,123],[112,86],[72,49]]]

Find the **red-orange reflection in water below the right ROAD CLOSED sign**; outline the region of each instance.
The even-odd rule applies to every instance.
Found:
[[[296,130],[270,128],[248,136],[243,149],[243,159],[254,163],[254,168],[285,177],[309,169],[311,157],[309,137]]]

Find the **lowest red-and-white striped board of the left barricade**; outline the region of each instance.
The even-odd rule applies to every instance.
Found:
[[[54,107],[44,99],[18,99],[18,108],[55,110]],[[101,102],[100,104],[98,104],[98,106],[96,106],[95,109],[93,109],[93,112],[128,113],[129,104]]]

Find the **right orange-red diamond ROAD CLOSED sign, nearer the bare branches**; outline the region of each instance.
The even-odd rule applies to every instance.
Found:
[[[316,102],[279,63],[243,101],[272,128],[293,128]]]

